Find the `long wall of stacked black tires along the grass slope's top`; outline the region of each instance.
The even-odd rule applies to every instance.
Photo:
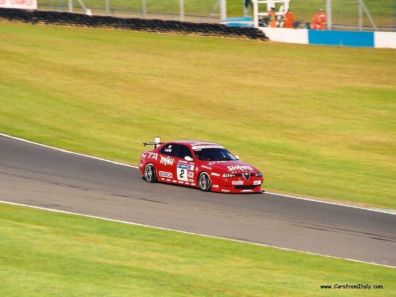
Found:
[[[212,23],[191,23],[157,19],[118,18],[80,13],[0,8],[0,21],[19,21],[31,24],[112,28],[168,34],[188,34],[214,37],[268,40],[256,28],[231,27]]]

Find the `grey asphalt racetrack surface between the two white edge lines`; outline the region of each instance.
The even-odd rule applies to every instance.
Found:
[[[396,267],[395,214],[149,184],[136,167],[4,135],[0,200]]]

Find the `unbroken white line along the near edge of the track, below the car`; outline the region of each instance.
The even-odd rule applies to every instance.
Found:
[[[33,205],[27,205],[27,204],[20,204],[20,203],[8,202],[8,201],[2,201],[2,200],[0,200],[0,203],[10,204],[10,205],[16,205],[16,206],[30,207],[30,208],[41,209],[41,210],[52,211],[52,212],[58,212],[58,213],[65,213],[65,214],[71,214],[71,215],[78,215],[78,216],[83,216],[83,217],[87,217],[87,218],[100,219],[100,220],[105,220],[105,221],[110,221],[110,222],[117,222],[117,223],[122,223],[122,224],[129,224],[129,225],[134,225],[134,226],[141,226],[141,227],[148,227],[148,228],[154,228],[154,229],[165,230],[165,231],[179,232],[179,233],[183,233],[183,234],[196,235],[196,236],[202,236],[202,237],[207,237],[207,238],[215,238],[215,239],[221,239],[221,240],[228,240],[228,241],[232,241],[232,242],[244,243],[244,244],[255,245],[255,246],[260,246],[260,247],[272,247],[272,248],[277,248],[277,249],[282,249],[282,250],[289,250],[289,251],[301,252],[301,253],[309,254],[309,255],[324,256],[324,257],[333,258],[333,259],[341,259],[341,260],[347,260],[347,261],[358,262],[358,263],[364,263],[364,264],[371,264],[371,265],[376,265],[376,266],[384,266],[384,267],[389,267],[389,268],[396,268],[396,266],[390,266],[390,265],[385,265],[385,264],[378,264],[378,263],[373,263],[373,262],[365,262],[365,261],[360,261],[360,260],[355,260],[355,259],[348,259],[348,258],[340,258],[340,257],[329,256],[329,255],[323,255],[323,254],[314,253],[314,252],[309,252],[309,251],[298,250],[298,249],[292,249],[292,248],[286,248],[286,247],[269,246],[269,245],[265,245],[265,244],[252,243],[252,242],[243,241],[243,240],[236,240],[236,239],[223,238],[223,237],[218,237],[218,236],[211,236],[211,235],[199,234],[199,233],[194,233],[194,232],[187,232],[187,231],[181,231],[181,230],[175,230],[175,229],[168,229],[168,228],[163,228],[163,227],[150,226],[150,225],[145,225],[145,224],[139,224],[139,223],[133,223],[133,222],[127,222],[127,221],[121,221],[121,220],[103,218],[103,217],[94,216],[94,215],[81,214],[81,213],[75,213],[75,212],[70,212],[70,211],[64,211],[64,210],[58,210],[58,209],[45,208],[45,207],[40,207],[40,206],[33,206]]]

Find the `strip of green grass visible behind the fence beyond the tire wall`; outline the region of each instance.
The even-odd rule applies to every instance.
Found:
[[[184,0],[184,10],[186,15],[209,16],[217,0]],[[332,19],[334,24],[358,25],[358,5],[357,0],[332,0]],[[38,0],[40,5],[64,5],[68,9],[68,3],[65,0]],[[83,0],[87,7],[104,8],[103,0]],[[148,12],[173,13],[176,16],[180,13],[180,0],[146,0]],[[395,3],[391,0],[364,1],[374,23],[377,26],[393,27],[395,24]],[[76,6],[79,3],[73,1]],[[142,11],[142,0],[110,0],[111,9],[126,9]],[[276,11],[279,11],[279,5],[276,4]],[[326,10],[326,0],[292,0],[290,8],[293,10],[297,21],[310,22],[318,8]],[[266,10],[266,4],[259,6],[259,11]],[[96,12],[96,10],[93,10]],[[98,10],[99,12],[99,10]],[[120,12],[118,12],[120,13]],[[215,11],[219,13],[219,8]],[[227,0],[227,15],[242,16],[244,13],[242,0]],[[248,11],[252,15],[252,9]],[[161,17],[161,16],[158,16]],[[217,16],[219,17],[219,16]],[[371,26],[369,18],[363,11],[363,25]]]

